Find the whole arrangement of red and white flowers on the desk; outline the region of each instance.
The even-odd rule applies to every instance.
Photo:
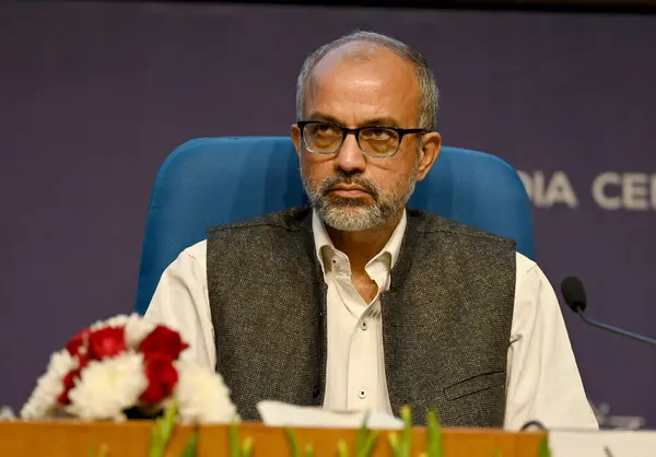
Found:
[[[188,347],[137,314],[98,321],[51,355],[21,418],[124,421],[155,418],[175,403],[183,423],[237,421],[223,378],[185,358]]]

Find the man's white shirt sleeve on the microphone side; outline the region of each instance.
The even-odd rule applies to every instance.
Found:
[[[541,269],[517,255],[504,426],[598,429],[558,297]]]

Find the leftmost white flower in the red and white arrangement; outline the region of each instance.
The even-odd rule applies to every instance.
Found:
[[[38,378],[36,387],[21,410],[21,418],[43,419],[57,409],[57,397],[63,390],[63,377],[78,367],[78,359],[61,350],[50,356],[46,373]]]

